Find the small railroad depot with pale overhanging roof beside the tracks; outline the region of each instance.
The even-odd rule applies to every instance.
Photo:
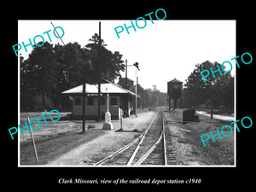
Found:
[[[82,117],[82,94],[83,84],[66,90],[62,94],[67,94],[73,101],[73,117]],[[107,112],[107,96],[109,96],[109,112],[111,119],[120,119],[120,110],[125,108],[125,99],[128,101],[126,113],[131,113],[131,103],[136,94],[130,90],[125,90],[118,84],[111,82],[101,84],[101,115],[102,119]],[[97,119],[98,114],[98,84],[85,84],[85,119]],[[124,112],[125,113],[125,112]]]

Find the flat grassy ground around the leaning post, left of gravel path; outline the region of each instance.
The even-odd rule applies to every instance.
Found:
[[[25,126],[27,115],[32,119],[38,118],[38,115],[42,113],[21,113],[20,126]],[[104,134],[104,131],[92,129],[96,127],[93,123],[86,123],[88,129],[83,133],[81,131],[82,121],[68,120],[67,114],[61,113],[61,119],[57,122],[51,121],[49,116],[45,116],[47,125],[45,125],[43,118],[39,118],[41,126],[37,131],[33,131],[38,151],[38,163],[35,158],[30,133],[24,131],[24,136],[20,136],[20,165],[48,164],[50,160],[55,160],[61,154],[66,154],[80,144],[89,142]],[[57,118],[54,115],[52,117],[53,119]]]

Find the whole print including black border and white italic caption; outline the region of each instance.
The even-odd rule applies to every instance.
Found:
[[[253,24],[174,9],[13,17],[4,146],[17,183],[169,191],[252,182]]]

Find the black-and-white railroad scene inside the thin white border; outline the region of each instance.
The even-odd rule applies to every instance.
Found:
[[[236,166],[236,20],[18,26],[20,166]]]

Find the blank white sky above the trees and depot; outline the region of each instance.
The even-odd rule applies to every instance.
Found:
[[[123,60],[127,59],[128,65],[136,61],[140,71],[137,71],[138,83],[144,89],[156,88],[167,92],[167,82],[176,78],[185,84],[185,79],[195,68],[195,64],[204,61],[230,61],[236,56],[236,20],[146,20],[147,25],[140,29],[132,20],[136,32],[131,27],[130,34],[125,31],[125,26],[131,26],[131,20],[19,20],[17,44],[29,44],[29,38],[42,35],[49,42],[47,34],[52,40],[51,44],[62,44],[60,38],[55,38],[53,26],[61,26],[65,32],[61,38],[65,44],[78,42],[81,47],[89,43],[89,39],[99,32],[101,21],[102,39],[107,44],[107,49],[119,51]],[[138,26],[143,26],[144,21],[139,20]],[[114,31],[117,26],[123,26],[124,31],[119,33],[119,38]],[[120,28],[119,28],[120,29]],[[118,29],[118,30],[119,30]],[[61,35],[61,29],[57,32]],[[36,43],[42,41],[36,38]],[[19,53],[28,58],[32,47],[22,47]],[[15,52],[14,52],[15,54]],[[235,61],[230,61],[236,66]],[[135,67],[128,67],[128,78],[135,81]],[[227,68],[228,70],[228,68]],[[236,73],[233,67],[231,74]],[[121,73],[125,77],[125,73]],[[116,81],[117,83],[118,81]]]

